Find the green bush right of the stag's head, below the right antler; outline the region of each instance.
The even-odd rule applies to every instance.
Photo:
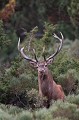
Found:
[[[65,74],[69,69],[76,69],[78,72],[79,61],[75,58],[70,58],[67,52],[61,52],[60,55],[54,60],[53,65],[53,74],[59,76],[60,74]],[[57,67],[56,67],[57,66]]]

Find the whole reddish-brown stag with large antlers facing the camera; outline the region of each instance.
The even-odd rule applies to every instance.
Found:
[[[20,38],[18,41],[18,50],[20,51],[22,57],[26,59],[27,61],[29,61],[30,64],[32,64],[32,66],[35,67],[38,71],[39,95],[40,97],[47,98],[47,103],[45,104],[47,108],[50,106],[50,102],[52,100],[61,99],[64,101],[64,98],[65,98],[65,94],[64,94],[62,86],[57,84],[54,81],[53,76],[48,69],[48,65],[53,62],[54,57],[61,51],[64,37],[61,32],[60,32],[60,35],[61,35],[61,38],[55,33],[53,34],[54,38],[60,41],[60,45],[58,46],[57,50],[52,55],[50,55],[48,58],[46,58],[46,56],[44,55],[43,61],[39,61],[37,59],[34,49],[33,49],[34,59],[28,57],[24,52],[24,47],[20,48]]]

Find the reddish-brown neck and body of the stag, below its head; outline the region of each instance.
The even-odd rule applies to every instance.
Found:
[[[49,101],[52,99],[64,100],[63,89],[61,85],[57,85],[55,83],[48,67],[45,67],[45,69],[42,71],[38,70],[38,83],[39,83],[39,94],[41,97],[45,96]]]

